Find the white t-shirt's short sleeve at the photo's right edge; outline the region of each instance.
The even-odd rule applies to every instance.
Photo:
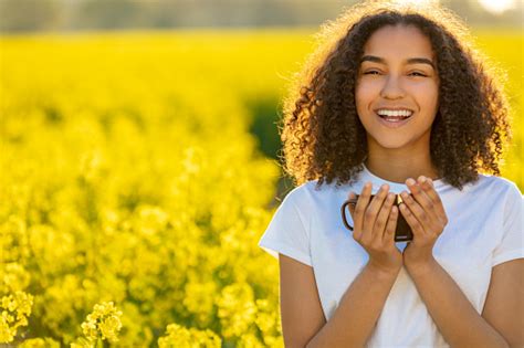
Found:
[[[516,184],[513,184],[505,202],[503,235],[493,251],[492,266],[524,257],[524,197]]]

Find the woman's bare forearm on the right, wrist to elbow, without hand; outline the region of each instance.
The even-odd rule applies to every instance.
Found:
[[[476,313],[457,283],[434,259],[423,267],[406,265],[406,268],[433,321],[452,347],[510,347],[504,337]],[[514,310],[517,315],[517,308]]]

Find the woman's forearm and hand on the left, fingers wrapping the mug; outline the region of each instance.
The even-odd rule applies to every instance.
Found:
[[[307,347],[363,347],[375,329],[402,267],[402,255],[395,245],[398,210],[392,207],[395,194],[388,191],[389,186],[384,184],[371,199],[371,184],[367,182],[357,204],[349,207],[353,239],[366,250],[369,260],[342,297],[333,317]],[[354,198],[353,192],[349,198]]]

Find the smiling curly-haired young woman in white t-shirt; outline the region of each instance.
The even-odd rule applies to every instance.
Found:
[[[369,1],[319,38],[284,105],[298,186],[259,242],[280,262],[285,346],[522,347],[524,209],[499,176],[495,72],[438,6]]]

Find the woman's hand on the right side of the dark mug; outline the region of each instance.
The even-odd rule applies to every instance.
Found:
[[[434,261],[433,245],[448,224],[448,217],[431,179],[421,176],[417,182],[409,178],[406,184],[411,194],[401,192],[404,203],[399,204],[399,209],[413,232],[413,240],[402,253],[404,264],[409,272]]]

